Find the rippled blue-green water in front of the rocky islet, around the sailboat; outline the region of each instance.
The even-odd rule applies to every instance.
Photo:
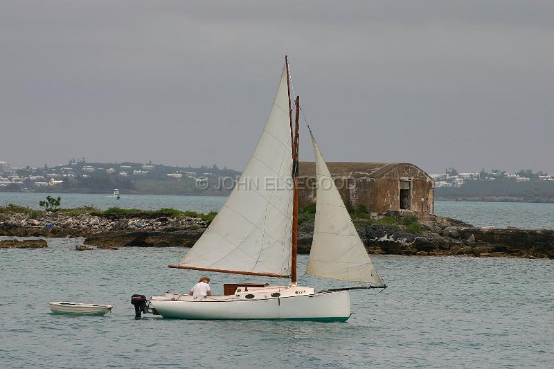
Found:
[[[374,262],[389,288],[352,292],[346,323],[134,320],[134,293],[186,291],[199,277],[168,269],[185,249],[0,249],[3,367],[546,368],[554,357],[554,260],[402,257]],[[307,258],[300,256],[299,270]],[[260,280],[211,274],[211,286]],[[344,282],[305,277],[324,289]],[[115,305],[106,316],[52,314],[48,302]]]

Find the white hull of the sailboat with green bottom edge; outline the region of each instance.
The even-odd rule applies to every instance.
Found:
[[[275,291],[279,297],[271,296]],[[231,296],[168,293],[152,296],[150,303],[164,318],[346,321],[350,317],[348,291],[314,293],[307,287],[265,287]]]

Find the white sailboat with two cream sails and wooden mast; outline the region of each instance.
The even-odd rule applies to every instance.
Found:
[[[289,278],[289,283],[230,283],[223,296],[168,291],[150,298],[164,318],[346,321],[350,289],[386,288],[352,224],[310,129],[316,163],[316,214],[306,274],[362,287],[315,291],[298,285],[298,117],[293,127],[287,57],[269,118],[242,176],[202,237],[170,268]],[[285,184],[283,186],[283,184]],[[287,186],[287,184],[289,186]]]

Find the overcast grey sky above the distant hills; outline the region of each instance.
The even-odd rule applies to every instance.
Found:
[[[0,161],[242,170],[288,54],[328,161],[554,172],[553,45],[553,1],[6,0]]]

